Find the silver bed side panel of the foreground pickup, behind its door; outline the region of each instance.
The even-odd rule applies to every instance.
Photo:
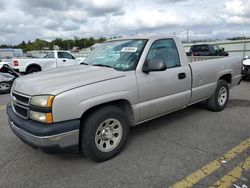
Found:
[[[241,58],[225,57],[189,63],[192,72],[192,97],[190,103],[211,97],[221,76],[227,75],[233,87],[241,79]]]

